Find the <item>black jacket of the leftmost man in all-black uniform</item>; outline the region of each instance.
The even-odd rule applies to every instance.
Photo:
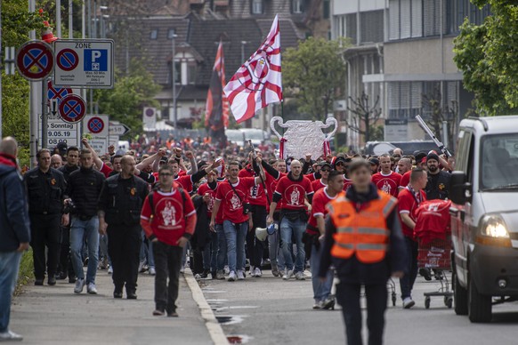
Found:
[[[39,168],[23,176],[28,192],[28,213],[61,214],[67,183],[63,174],[53,168],[43,173]]]

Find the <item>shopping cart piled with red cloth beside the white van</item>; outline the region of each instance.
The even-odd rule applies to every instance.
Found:
[[[428,200],[417,208],[416,237],[419,245],[417,268],[435,271],[435,277],[451,269],[451,230],[449,229],[449,200]],[[444,305],[453,306],[453,291],[448,275],[439,279],[441,287],[432,293],[425,293],[425,308],[430,308],[432,297],[443,297]]]

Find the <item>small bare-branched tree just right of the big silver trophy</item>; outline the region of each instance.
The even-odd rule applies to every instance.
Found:
[[[376,97],[372,106],[368,94],[365,92],[361,92],[360,97],[356,100],[352,97],[349,97],[349,100],[351,100],[353,106],[347,106],[347,110],[352,113],[351,118],[345,121],[349,128],[363,135],[365,142],[381,139],[378,138],[379,129],[376,129],[376,123],[381,117],[381,108],[378,107],[379,96]],[[376,138],[373,138],[373,134]]]

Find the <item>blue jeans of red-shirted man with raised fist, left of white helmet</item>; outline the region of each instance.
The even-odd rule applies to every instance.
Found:
[[[245,270],[245,239],[247,238],[248,221],[236,224],[231,221],[223,221],[223,231],[227,239],[229,269],[234,272]]]

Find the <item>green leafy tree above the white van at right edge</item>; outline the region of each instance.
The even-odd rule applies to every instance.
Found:
[[[482,25],[465,20],[454,41],[454,60],[462,70],[474,104],[488,115],[510,114],[518,108],[518,8],[513,0],[472,0],[490,5]]]

